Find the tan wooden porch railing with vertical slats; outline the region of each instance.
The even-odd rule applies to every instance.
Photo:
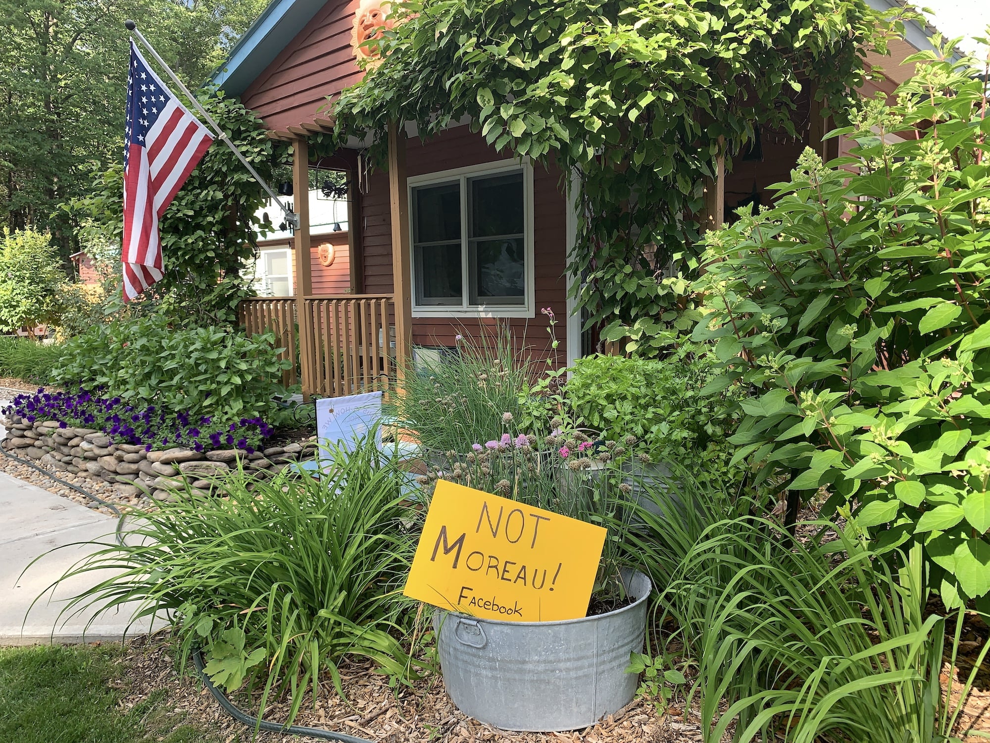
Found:
[[[293,362],[286,384],[299,378],[296,364],[310,393],[328,397],[384,389],[393,376],[391,294],[306,296],[301,311],[294,298],[252,297],[239,309],[248,333],[270,329],[286,349],[283,358]],[[308,343],[300,343],[300,333]]]

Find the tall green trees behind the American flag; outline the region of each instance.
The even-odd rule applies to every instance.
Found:
[[[0,0],[0,227],[49,230],[77,248],[62,202],[121,160],[134,18],[193,87],[223,61],[264,0]]]

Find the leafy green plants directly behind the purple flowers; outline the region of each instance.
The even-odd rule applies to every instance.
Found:
[[[51,377],[193,419],[264,417],[282,391],[285,363],[273,343],[271,334],[247,338],[219,327],[173,330],[162,316],[119,320],[67,341]]]

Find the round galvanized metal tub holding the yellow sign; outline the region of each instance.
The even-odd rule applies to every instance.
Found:
[[[548,732],[593,725],[632,701],[627,674],[643,650],[651,585],[625,581],[636,601],[607,614],[558,622],[434,614],[447,693],[462,712],[505,730]]]

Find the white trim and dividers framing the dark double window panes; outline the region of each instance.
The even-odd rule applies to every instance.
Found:
[[[483,162],[478,165],[468,165],[466,167],[454,167],[449,170],[440,170],[438,172],[425,173],[423,175],[414,175],[411,178],[407,178],[408,183],[408,199],[410,205],[414,203],[413,201],[413,188],[416,186],[431,185],[433,183],[444,183],[450,182],[451,180],[457,180],[460,183],[460,193],[461,193],[461,219],[460,219],[460,239],[461,239],[461,250],[464,250],[464,241],[466,240],[466,230],[467,221],[466,215],[463,214],[464,204],[467,202],[467,179],[470,177],[475,177],[478,175],[497,175],[500,172],[506,172],[511,170],[523,171],[523,234],[526,240],[526,301],[524,304],[514,304],[514,305],[469,305],[467,302],[467,287],[468,279],[467,275],[467,261],[461,261],[461,287],[463,291],[463,299],[460,307],[451,306],[436,306],[436,305],[418,305],[416,304],[416,256],[413,251],[413,241],[409,241],[409,261],[410,261],[410,274],[412,280],[412,286],[410,286],[410,293],[413,297],[413,317],[536,317],[537,300],[535,296],[536,289],[536,270],[534,266],[536,251],[534,250],[534,210],[533,210],[533,165],[529,158],[523,159],[522,161],[518,159],[503,159],[497,160],[495,162]],[[409,209],[409,235],[412,237],[414,235],[413,220],[415,218],[414,210]],[[464,254],[461,253],[463,257]]]

